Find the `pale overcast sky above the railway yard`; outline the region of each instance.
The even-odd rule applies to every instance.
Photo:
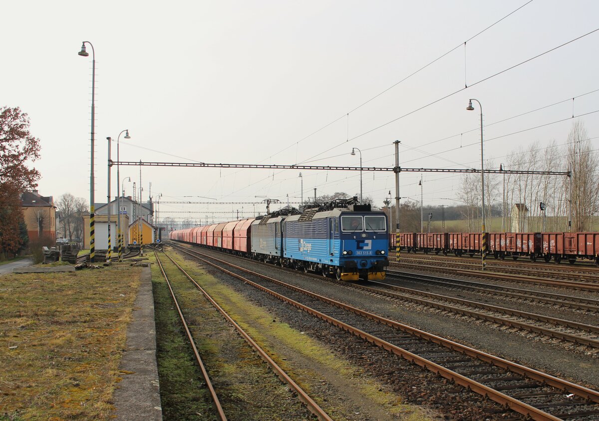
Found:
[[[106,137],[125,129],[132,138],[120,138],[121,161],[359,166],[355,147],[364,166],[392,167],[398,139],[402,167],[480,168],[480,111],[465,109],[469,98],[482,103],[485,158],[499,167],[519,147],[564,143],[573,113],[591,113],[579,119],[599,136],[599,92],[588,94],[599,89],[599,31],[477,83],[599,28],[596,0],[526,3],[4,1],[0,106],[28,113],[41,140],[39,190],[55,200],[67,192],[89,200],[92,49],[77,55],[84,40],[96,54],[96,202],[107,196]],[[139,186],[139,170],[122,166],[121,179]],[[298,175],[143,167],[141,176],[144,201],[151,182],[162,201],[299,202]],[[302,175],[304,197],[314,187],[359,193],[359,172]],[[425,205],[452,203],[441,198],[456,197],[460,178],[423,173]],[[400,195],[419,199],[419,179],[402,173]],[[116,168],[112,180],[116,196]],[[364,172],[363,188],[380,206],[389,190],[395,196],[393,173]],[[244,216],[253,211],[161,210],[241,206]]]

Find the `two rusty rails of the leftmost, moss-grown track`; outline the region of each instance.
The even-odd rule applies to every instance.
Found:
[[[198,353],[198,349],[195,345],[195,340],[193,339],[192,333],[189,330],[189,326],[187,324],[187,321],[185,320],[185,317],[183,315],[183,312],[181,311],[181,308],[179,306],[179,302],[177,301],[176,295],[173,291],[173,288],[171,287],[171,282],[168,279],[167,273],[164,269],[164,266],[162,264],[162,261],[159,257],[159,254],[157,251],[154,251],[155,257],[156,257],[156,261],[158,262],[158,265],[160,267],[160,270],[162,272],[162,276],[164,276],[165,281],[167,282],[168,285],[168,289],[170,290],[171,293],[171,297],[173,297],[173,302],[174,305],[177,308],[177,312],[179,313],[179,317],[181,320],[181,324],[183,325],[183,328],[185,330],[187,339],[189,340],[189,343],[193,349],[193,354],[195,356],[195,360],[198,363],[199,368],[201,369],[202,372],[202,378],[204,378],[205,384],[210,392],[210,396],[213,402],[213,406],[214,406],[214,411],[216,413],[216,417],[219,420],[225,421],[226,415],[225,415],[225,411],[223,411],[222,405],[220,404],[220,400],[219,397],[217,396],[216,390],[214,389],[214,386],[210,380],[210,375],[208,375],[208,371],[205,368],[204,362],[202,362],[201,356],[199,356]],[[233,320],[233,318],[227,314],[227,312],[221,307],[219,306],[216,301],[214,301],[214,299],[210,296],[210,294],[207,293],[207,291],[204,290],[204,288],[202,288],[196,281],[195,279],[192,278],[192,276],[190,276],[179,264],[177,264],[176,261],[173,260],[173,258],[170,257],[170,255],[168,255],[166,252],[164,252],[164,255],[166,257],[168,257],[168,259],[174,264],[174,266],[177,267],[177,269],[180,270],[181,273],[183,273],[184,276],[186,276],[187,279],[189,279],[190,282],[193,283],[193,285],[195,285],[196,288],[198,288],[198,290],[204,295],[205,299],[207,299],[211,305],[214,306],[214,308],[217,309],[217,311],[220,312],[220,314],[222,314],[223,318],[225,318],[225,320],[231,324],[235,330],[237,330],[237,332],[243,337],[243,339],[247,342],[247,344],[249,344],[258,354],[259,356],[262,358],[262,360],[264,360],[268,366],[271,367],[271,369],[273,369],[274,373],[284,382],[286,383],[298,396],[299,400],[304,402],[304,404],[306,405],[306,407],[308,408],[308,410],[310,410],[311,413],[314,414],[314,416],[317,417],[317,419],[319,419],[320,421],[332,421],[331,417],[329,417],[324,410],[322,410],[322,408],[319,407],[318,404],[316,404],[316,402],[313,401],[313,399],[310,398],[310,396],[303,390],[301,389],[301,387],[298,386],[297,383],[295,383],[294,380],[292,380],[291,377],[289,377],[289,375],[283,371],[282,368],[280,368],[279,365],[277,365],[276,362],[274,362],[273,359],[271,359],[270,356],[268,356],[267,352],[265,352],[251,337],[250,335],[245,332],[245,330],[243,330],[241,328],[241,326],[239,326],[235,320]]]

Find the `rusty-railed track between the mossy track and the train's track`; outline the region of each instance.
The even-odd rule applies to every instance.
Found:
[[[599,392],[595,390],[379,317],[213,256],[180,246],[176,248],[531,419],[582,421],[599,416]]]

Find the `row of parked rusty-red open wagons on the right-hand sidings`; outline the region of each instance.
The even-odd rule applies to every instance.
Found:
[[[485,233],[487,254],[495,258],[520,256],[547,263],[568,260],[571,264],[579,259],[594,261],[599,266],[599,233]],[[391,248],[399,239],[401,250],[422,251],[456,256],[480,254],[482,233],[398,233],[391,234]]]

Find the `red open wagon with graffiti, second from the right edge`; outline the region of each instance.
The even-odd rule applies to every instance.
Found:
[[[514,260],[524,255],[535,261],[541,255],[541,233],[488,233],[489,254],[504,259],[506,255]]]

